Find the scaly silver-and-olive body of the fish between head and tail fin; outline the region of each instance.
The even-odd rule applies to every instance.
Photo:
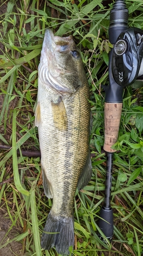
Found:
[[[81,92],[83,89],[80,89]],[[84,90],[85,91],[85,90]],[[45,90],[44,90],[45,93]],[[78,93],[79,94],[79,93]],[[57,129],[54,129],[53,124],[53,117],[52,117],[52,111],[51,116],[48,115],[48,120],[45,119],[45,117],[41,117],[41,122],[43,122],[43,125],[39,126],[39,140],[43,141],[44,143],[40,143],[40,149],[41,149],[41,164],[43,169],[45,170],[45,173],[50,174],[49,181],[54,183],[54,186],[52,188],[53,190],[53,206],[52,209],[54,210],[56,215],[59,215],[60,212],[63,211],[63,204],[67,200],[59,201],[59,191],[63,192],[64,199],[66,199],[66,196],[68,194],[71,194],[70,197],[72,197],[72,201],[74,200],[74,194],[75,189],[77,186],[78,178],[81,173],[82,168],[85,165],[85,161],[87,160],[84,157],[88,155],[89,152],[89,135],[87,133],[87,138],[85,137],[86,131],[84,131],[84,126],[87,127],[87,123],[89,123],[90,116],[87,115],[87,120],[85,120],[86,111],[83,113],[80,113],[79,110],[81,109],[81,104],[79,105],[79,95],[74,95],[70,100],[68,98],[67,102],[64,101],[66,113],[68,116],[68,123],[69,127],[67,131],[57,131]],[[42,94],[40,94],[40,97]],[[51,105],[51,97],[50,93],[48,93],[49,98],[45,100],[45,104],[41,106],[41,112],[50,112],[50,106]],[[85,98],[84,95],[82,95],[82,101],[83,98]],[[40,101],[38,97],[38,101]],[[77,102],[76,108],[73,106],[72,113],[71,113],[71,106]],[[85,102],[87,99],[85,98]],[[84,102],[83,102],[84,103]],[[70,106],[70,107],[69,107]],[[88,104],[87,104],[88,106]],[[89,112],[89,108],[87,108],[87,111]],[[75,120],[73,120],[73,117],[75,117]],[[80,117],[80,121],[76,119],[76,117]],[[72,118],[70,120],[70,118]],[[83,122],[82,122],[83,121]],[[44,124],[45,123],[45,124]],[[81,123],[81,124],[80,124]],[[81,125],[81,130],[79,127],[79,124]],[[41,132],[41,129],[46,131],[44,134]],[[85,129],[86,130],[86,129]],[[42,137],[41,137],[42,134]],[[53,136],[54,134],[54,136]],[[52,136],[51,136],[52,135]],[[84,136],[84,147],[83,147],[83,136]],[[49,140],[47,141],[47,138]],[[87,141],[86,141],[87,139]],[[74,145],[73,145],[74,144]],[[54,147],[56,150],[54,150]],[[56,162],[53,161],[53,153],[56,158]],[[43,157],[44,155],[44,157]],[[52,170],[51,170],[52,169]],[[57,170],[60,170],[60,176],[58,176]],[[70,177],[71,176],[71,177]],[[64,186],[68,181],[70,180],[70,186],[67,189],[67,186]],[[54,196],[55,195],[55,196]],[[71,205],[73,202],[71,203]],[[55,205],[55,206],[54,206]],[[66,214],[67,212],[70,212],[69,214],[72,215],[72,208],[69,209],[67,204]],[[63,211],[64,213],[64,211]]]

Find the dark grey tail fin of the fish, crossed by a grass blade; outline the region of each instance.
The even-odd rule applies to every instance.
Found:
[[[55,217],[49,212],[45,232],[42,234],[41,245],[45,250],[55,248],[63,256],[70,254],[69,247],[74,246],[74,221],[73,217]]]

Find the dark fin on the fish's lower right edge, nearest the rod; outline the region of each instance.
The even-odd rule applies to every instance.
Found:
[[[82,173],[80,174],[77,188],[78,190],[82,189],[84,186],[88,185],[90,179],[92,176],[92,162],[91,162],[91,154],[89,151],[89,155],[87,158],[87,162],[85,163],[85,166],[82,170]]]

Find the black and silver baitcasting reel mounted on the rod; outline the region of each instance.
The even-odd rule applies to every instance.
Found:
[[[130,28],[117,38],[112,54],[112,75],[123,87],[143,80],[143,30]],[[142,81],[143,84],[143,81]]]

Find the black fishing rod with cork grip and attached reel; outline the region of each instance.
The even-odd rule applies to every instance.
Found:
[[[109,85],[105,90],[104,150],[107,155],[104,205],[100,210],[98,226],[111,242],[113,237],[113,210],[110,206],[113,150],[117,142],[123,105],[124,87],[136,79],[143,79],[143,31],[128,28],[128,9],[124,0],[116,0],[110,11],[109,41],[113,49],[109,54]],[[98,236],[104,241],[100,233]]]

